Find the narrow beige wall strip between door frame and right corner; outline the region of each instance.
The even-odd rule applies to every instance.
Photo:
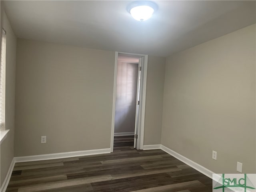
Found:
[[[144,145],[161,143],[165,58],[148,56]]]

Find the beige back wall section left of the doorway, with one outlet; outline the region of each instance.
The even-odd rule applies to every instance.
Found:
[[[18,39],[15,156],[110,148],[114,59]]]

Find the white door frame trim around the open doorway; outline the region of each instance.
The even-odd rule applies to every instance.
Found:
[[[116,78],[117,78],[117,63],[118,54],[126,54],[132,56],[142,57],[141,67],[141,87],[140,87],[140,113],[138,125],[138,146],[137,149],[143,149],[144,145],[144,124],[145,124],[145,107],[146,107],[146,88],[147,88],[147,72],[148,72],[148,55],[133,54],[125,52],[116,52],[115,67],[114,67],[114,89],[113,89],[113,106],[112,106],[112,124],[111,124],[111,138],[110,138],[110,152],[114,150],[114,130],[115,130],[115,109],[116,109]]]

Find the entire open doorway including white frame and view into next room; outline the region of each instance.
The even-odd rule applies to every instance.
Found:
[[[116,52],[111,152],[143,149],[147,61],[147,55]]]

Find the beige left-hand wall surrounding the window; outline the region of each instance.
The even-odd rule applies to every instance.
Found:
[[[0,146],[0,183],[2,185],[12,158],[14,157],[14,108],[15,108],[15,67],[16,67],[16,36],[12,31],[8,18],[2,9],[1,26],[6,30],[6,139]]]

